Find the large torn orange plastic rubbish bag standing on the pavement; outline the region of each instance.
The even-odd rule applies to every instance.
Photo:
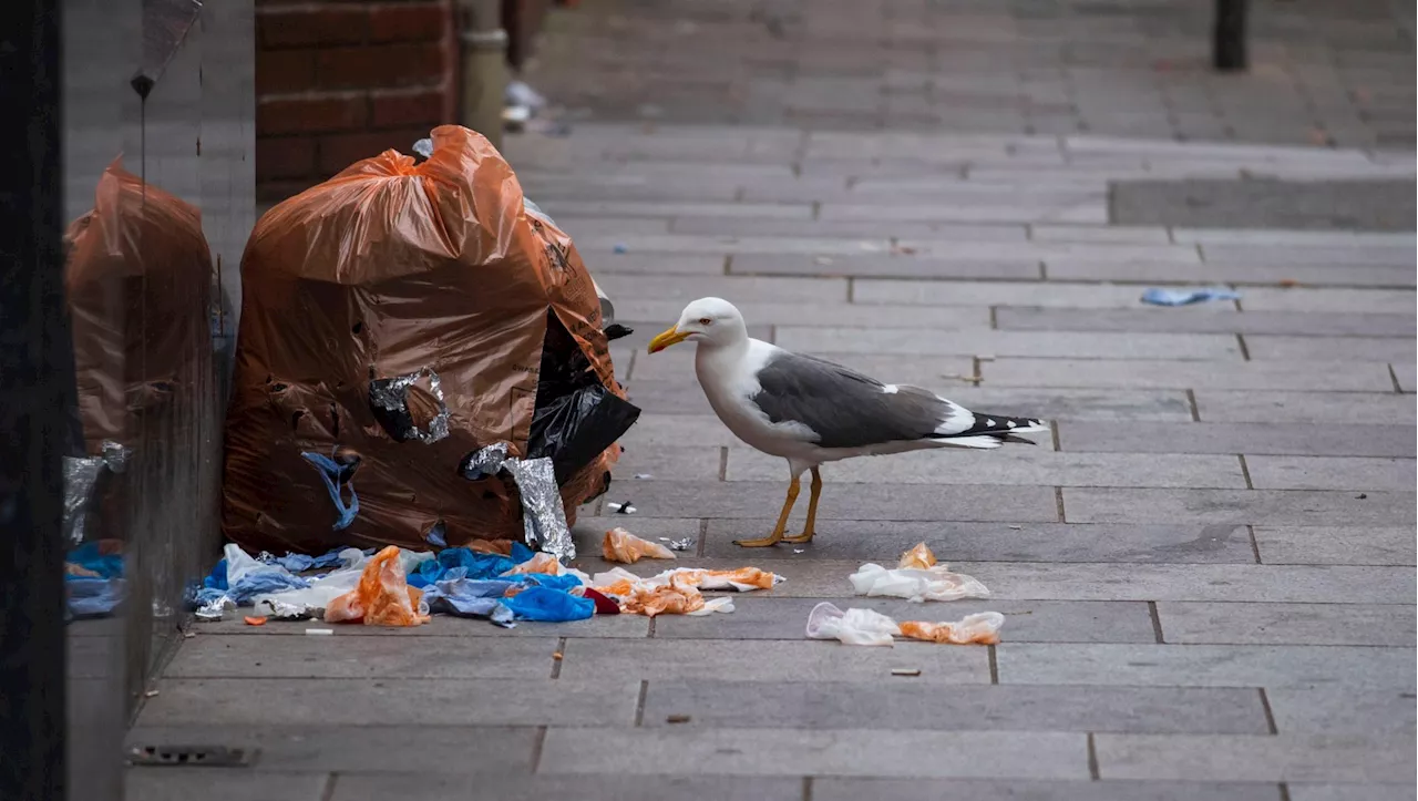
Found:
[[[520,540],[516,485],[459,465],[498,442],[527,455],[543,350],[579,349],[625,398],[576,247],[527,213],[512,169],[465,128],[434,129],[427,162],[387,150],[272,208],[241,279],[223,532],[251,553],[425,549],[440,522],[450,546]],[[391,422],[373,396],[400,379],[407,418]],[[336,447],[357,462],[359,513],[342,530],[302,456]],[[618,454],[559,476],[569,525]]]

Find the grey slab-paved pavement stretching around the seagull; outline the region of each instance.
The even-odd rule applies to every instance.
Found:
[[[1256,0],[1241,77],[1201,68],[1210,3],[584,6],[533,78],[593,119],[505,146],[637,329],[580,566],[621,525],[787,581],[705,618],[197,627],[132,737],[261,754],[133,797],[1418,798],[1418,233],[1109,211],[1130,179],[1418,177],[1408,4]],[[1241,301],[1140,302],[1212,284]],[[786,468],[688,349],[644,352],[708,293],[1056,435],[828,465],[815,542],[739,549]],[[917,542],[991,598],[852,597]],[[1003,642],[807,641],[821,600],[997,610]]]

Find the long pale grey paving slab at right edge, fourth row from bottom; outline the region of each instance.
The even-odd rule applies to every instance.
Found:
[[[1003,642],[995,651],[1001,685],[1409,692],[1418,666],[1418,649],[1412,648]]]

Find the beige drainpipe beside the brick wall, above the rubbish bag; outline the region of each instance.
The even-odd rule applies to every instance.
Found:
[[[499,0],[458,0],[459,118],[502,147],[502,102],[508,86],[508,31]]]

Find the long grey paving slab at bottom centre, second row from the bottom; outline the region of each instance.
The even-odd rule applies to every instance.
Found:
[[[552,729],[543,773],[1083,778],[1083,734],[801,729]]]

